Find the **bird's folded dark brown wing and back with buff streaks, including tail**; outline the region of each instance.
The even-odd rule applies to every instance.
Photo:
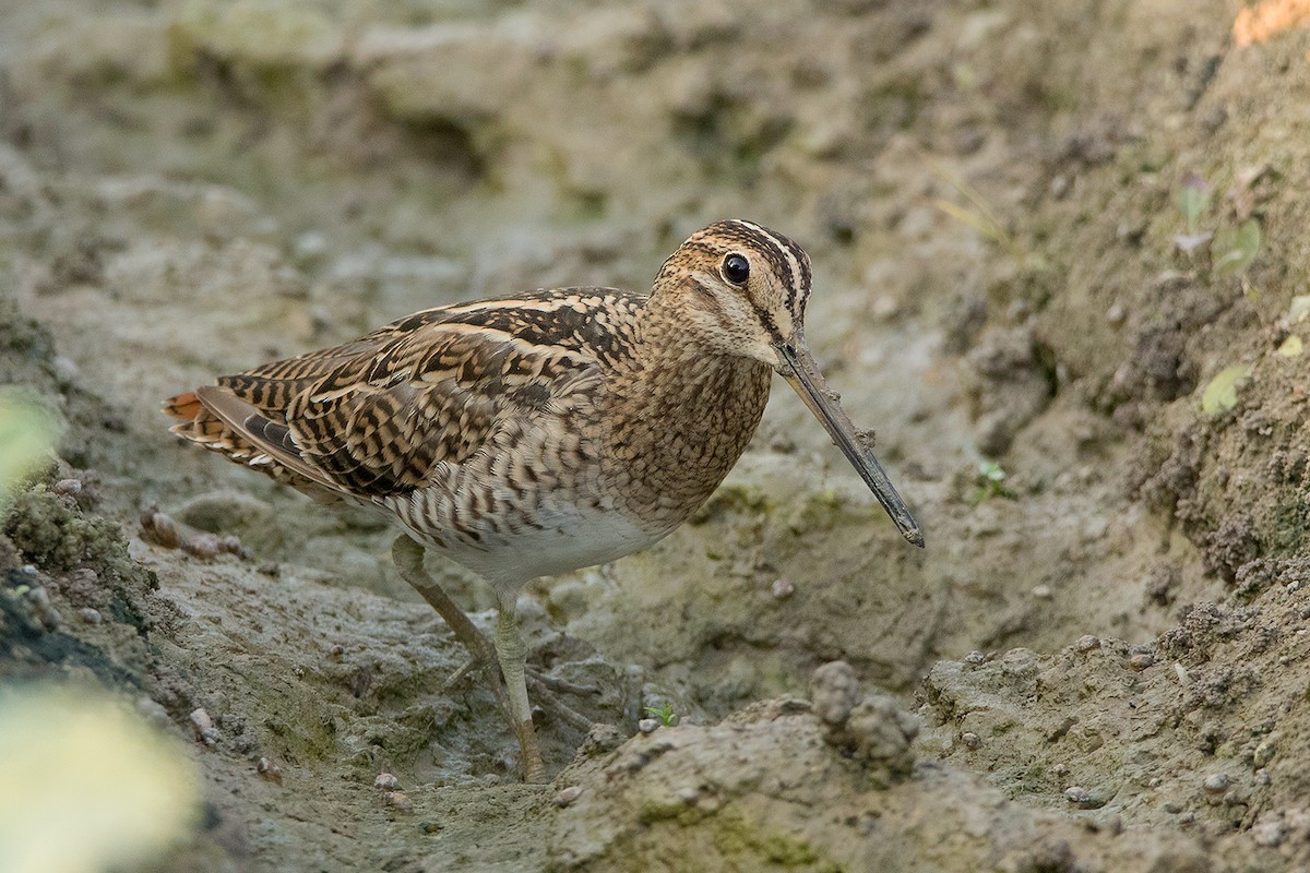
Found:
[[[494,450],[507,423],[559,412],[626,349],[642,298],[537,292],[415,313],[337,348],[172,398],[174,432],[295,486],[379,499]]]

